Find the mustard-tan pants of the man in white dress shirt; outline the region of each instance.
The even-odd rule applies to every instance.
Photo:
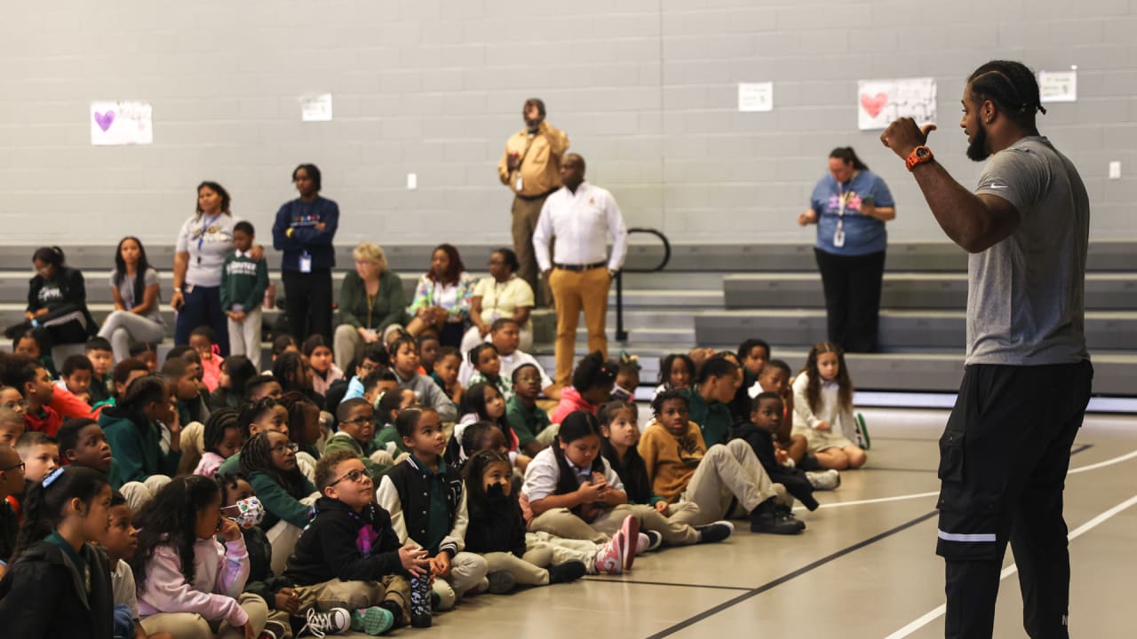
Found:
[[[608,357],[608,337],[604,332],[608,313],[608,285],[612,277],[605,267],[575,272],[554,268],[549,274],[549,288],[557,305],[557,376],[563,387],[572,382],[572,367],[576,357],[576,322],[584,312],[588,327],[588,351],[599,350]]]

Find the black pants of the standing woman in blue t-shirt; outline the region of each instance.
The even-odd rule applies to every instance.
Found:
[[[829,341],[847,352],[875,352],[885,251],[835,255],[813,249],[825,290]]]

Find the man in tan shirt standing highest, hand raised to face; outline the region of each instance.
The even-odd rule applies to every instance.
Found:
[[[545,198],[561,188],[561,157],[568,149],[568,136],[545,121],[545,102],[525,100],[522,110],[525,130],[509,136],[498,163],[498,177],[513,190],[513,250],[521,268],[517,275],[529,282],[538,304],[550,298],[538,285],[533,230]]]

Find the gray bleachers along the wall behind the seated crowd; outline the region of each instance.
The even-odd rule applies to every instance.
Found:
[[[467,268],[484,274],[497,244],[458,244]],[[107,276],[114,246],[65,246],[70,266],[83,271],[89,306],[101,321],[111,309]],[[334,292],[352,267],[351,246],[338,247]],[[431,246],[384,246],[392,269],[402,276],[407,299],[426,268]],[[17,322],[26,305],[33,246],[0,247],[0,323]],[[628,266],[658,264],[657,243],[632,243]],[[161,272],[163,297],[171,292],[173,246],[148,244],[150,263]],[[268,250],[274,281],[280,256]],[[615,287],[609,297],[608,337],[613,356],[621,349],[639,355],[644,385],[654,385],[658,359],[695,345],[735,348],[761,337],[774,356],[794,367],[814,342],[825,339],[824,300],[811,246],[800,243],[672,244],[667,267],[656,273],[625,273],[625,342],[616,342]],[[279,289],[282,289],[279,285]],[[279,291],[283,294],[283,290]],[[966,305],[966,255],[946,242],[893,243],[881,301],[880,343],[883,352],[849,355],[860,390],[954,392],[963,370]],[[163,308],[167,333],[173,312]],[[266,312],[272,321],[275,313]],[[534,320],[534,354],[551,371],[554,316],[539,309]],[[1086,276],[1086,331],[1094,359],[1098,396],[1137,396],[1137,242],[1093,242]],[[583,321],[578,352],[586,350]],[[167,341],[167,347],[169,342]],[[264,345],[267,349],[268,345]],[[5,345],[10,348],[10,345]]]

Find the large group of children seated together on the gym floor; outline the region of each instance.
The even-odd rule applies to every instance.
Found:
[[[193,331],[161,367],[93,338],[58,375],[0,360],[0,626],[20,638],[259,638],[424,628],[464,597],[621,574],[644,553],[797,534],[795,498],[865,462],[844,357],[791,381],[770,347],[556,387],[498,320],[466,354],[391,332],[341,371],[326,341],[271,373]],[[345,373],[346,371],[346,373]],[[57,379],[52,379],[56,376]],[[109,522],[109,526],[108,526]]]

